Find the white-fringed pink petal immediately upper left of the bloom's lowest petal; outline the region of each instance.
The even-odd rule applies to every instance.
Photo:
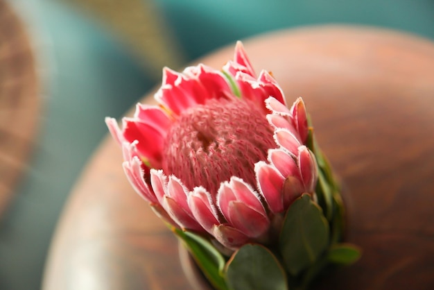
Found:
[[[203,187],[196,187],[189,194],[188,203],[196,221],[213,234],[214,225],[219,225],[220,221],[216,207],[212,204],[211,194]]]

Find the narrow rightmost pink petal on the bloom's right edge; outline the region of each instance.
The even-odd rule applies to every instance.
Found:
[[[318,177],[316,160],[306,146],[300,146],[298,150],[298,167],[302,174],[304,187],[306,192],[312,193],[315,190]]]

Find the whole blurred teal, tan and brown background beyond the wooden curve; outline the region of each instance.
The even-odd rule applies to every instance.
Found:
[[[369,25],[434,41],[433,0],[0,0],[0,289],[40,289],[87,159],[162,67],[281,28]]]

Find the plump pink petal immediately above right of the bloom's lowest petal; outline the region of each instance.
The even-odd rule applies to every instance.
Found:
[[[228,207],[229,223],[248,237],[259,237],[270,227],[270,220],[264,211],[257,212],[241,201],[233,201]]]

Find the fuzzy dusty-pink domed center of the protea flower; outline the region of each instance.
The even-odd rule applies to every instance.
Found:
[[[275,148],[265,114],[250,101],[211,99],[182,112],[166,137],[163,170],[188,189],[202,186],[215,196],[232,176],[256,184],[254,164]]]

